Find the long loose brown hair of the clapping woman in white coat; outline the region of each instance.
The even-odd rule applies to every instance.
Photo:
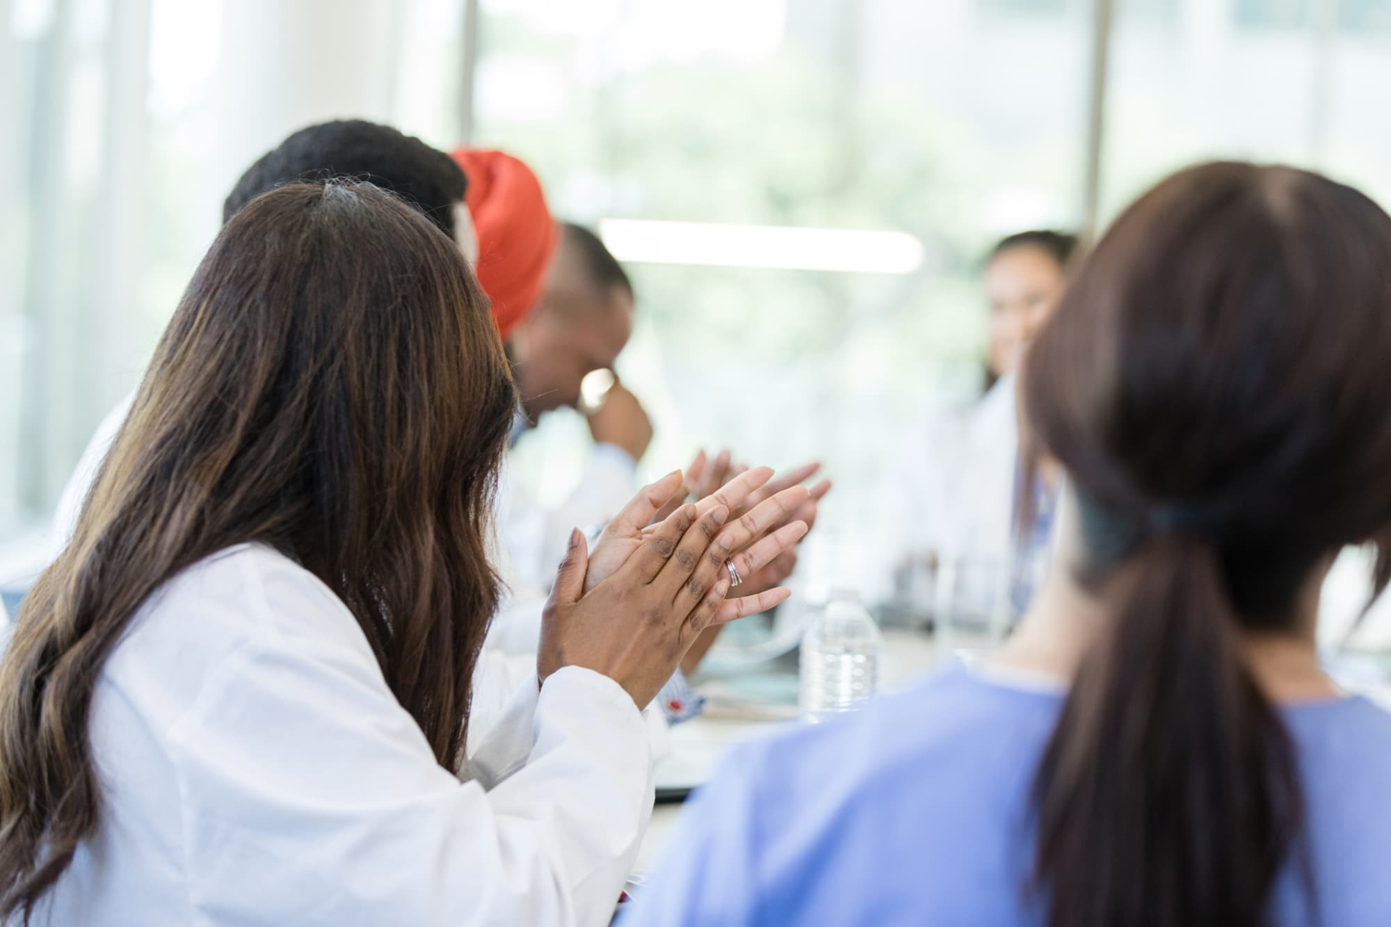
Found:
[[[0,919],[28,920],[97,824],[88,718],[113,647],[156,589],[234,544],[338,594],[456,768],[515,402],[463,256],[394,196],[292,184],[227,223],[0,665]]]

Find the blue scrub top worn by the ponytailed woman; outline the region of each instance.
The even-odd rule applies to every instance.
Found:
[[[1028,795],[1060,689],[949,670],[855,715],[736,747],[620,927],[1036,926]],[[1303,766],[1321,921],[1283,876],[1281,926],[1391,924],[1391,715],[1283,710]]]

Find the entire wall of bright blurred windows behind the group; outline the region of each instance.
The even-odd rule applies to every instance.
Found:
[[[810,560],[835,582],[872,557],[857,514],[890,436],[979,390],[993,238],[1104,223],[1219,156],[1391,203],[1388,114],[1391,0],[0,0],[0,569],[235,178],[310,122],[509,149],[559,217],[697,224],[666,259],[704,223],[911,237],[897,263],[849,249],[872,271],[630,264],[644,469],[825,459]],[[746,256],[722,260],[778,263]],[[523,472],[562,494],[586,437],[551,416]]]

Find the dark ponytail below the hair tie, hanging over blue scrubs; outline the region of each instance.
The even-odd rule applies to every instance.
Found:
[[[1035,781],[1047,924],[1259,927],[1302,802],[1217,547],[1156,533],[1103,594],[1107,626]]]

